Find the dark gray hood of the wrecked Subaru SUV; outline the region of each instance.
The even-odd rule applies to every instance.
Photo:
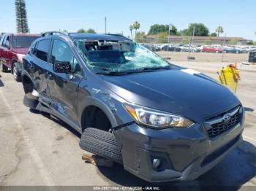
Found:
[[[113,93],[129,103],[202,120],[239,103],[226,87],[203,74],[179,69],[104,76]]]

